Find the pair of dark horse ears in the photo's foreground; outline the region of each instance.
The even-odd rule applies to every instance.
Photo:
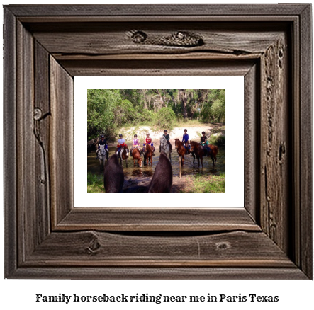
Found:
[[[123,168],[118,163],[118,156],[113,154],[103,174],[103,185],[106,193],[123,192],[124,174]],[[160,154],[159,161],[155,168],[154,176],[148,186],[135,186],[129,188],[128,192],[140,193],[169,193],[172,188],[172,165],[168,157]],[[126,191],[126,190],[125,190]]]

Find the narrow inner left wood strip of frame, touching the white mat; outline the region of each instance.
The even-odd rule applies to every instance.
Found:
[[[73,208],[73,108],[73,78],[50,56],[52,226]]]

